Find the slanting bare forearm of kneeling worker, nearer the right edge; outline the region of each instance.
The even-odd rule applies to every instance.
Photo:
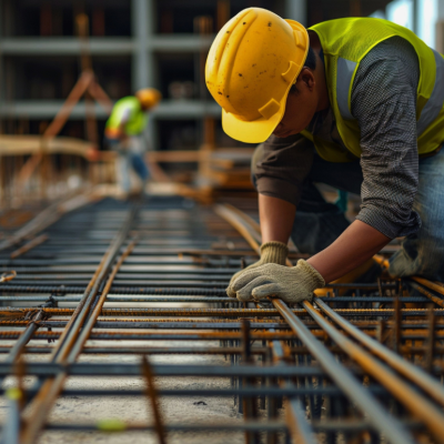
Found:
[[[307,262],[325,282],[332,282],[364,263],[390,241],[390,238],[366,223],[354,221],[336,241]]]

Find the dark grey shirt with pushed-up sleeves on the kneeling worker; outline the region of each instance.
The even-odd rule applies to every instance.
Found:
[[[356,219],[392,239],[415,233],[421,226],[413,210],[418,183],[418,79],[415,50],[406,40],[393,37],[365,56],[352,88],[351,111],[361,129],[364,178]],[[316,113],[307,129],[346,151],[331,109]],[[258,191],[297,205],[314,155],[313,143],[300,134],[272,135],[254,168]]]

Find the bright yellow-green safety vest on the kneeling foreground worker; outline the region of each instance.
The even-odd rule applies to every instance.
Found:
[[[324,52],[325,77],[330,103],[337,131],[346,149],[361,157],[361,130],[351,112],[354,75],[365,54],[377,43],[398,36],[416,51],[420,81],[416,99],[417,151],[430,153],[444,142],[444,59],[406,28],[386,20],[352,18],[319,23],[310,30],[316,32]],[[335,143],[302,134],[314,142],[317,153],[330,162],[347,162],[350,153]]]

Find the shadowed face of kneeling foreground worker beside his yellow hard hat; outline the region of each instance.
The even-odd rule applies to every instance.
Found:
[[[319,95],[313,71],[304,68],[295,85],[297,91],[289,93],[285,114],[273,131],[278,138],[287,138],[305,130],[317,110]]]

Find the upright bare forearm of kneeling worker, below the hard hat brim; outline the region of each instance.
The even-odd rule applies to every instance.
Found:
[[[287,243],[293,228],[296,208],[278,198],[259,194],[262,243],[278,241]]]

